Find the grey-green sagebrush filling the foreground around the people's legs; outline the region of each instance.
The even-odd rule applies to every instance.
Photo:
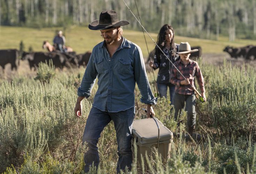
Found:
[[[170,159],[161,161],[156,154],[156,158],[148,159],[149,168],[138,167],[135,159],[130,173],[256,173],[255,71],[226,62],[220,67],[199,63],[208,102],[197,103],[197,120],[200,126],[209,126],[206,133],[211,139],[186,142],[186,112],[181,114],[179,120],[183,122],[178,128],[173,112],[170,114],[170,102],[158,98],[153,106],[156,117],[173,133],[182,134],[174,139]],[[83,173],[86,149],[81,144],[82,135],[97,81],[91,97],[83,101],[83,116],[76,118],[76,92],[84,68],[54,73],[42,78],[45,80],[34,80],[34,74],[0,84],[0,172]],[[149,80],[154,83],[152,74]],[[146,105],[140,97],[136,86],[136,119],[145,116],[140,109]],[[205,132],[199,124],[197,130]],[[115,173],[118,155],[113,122],[103,130],[98,148],[101,163],[97,173]],[[96,173],[95,168],[91,173]]]

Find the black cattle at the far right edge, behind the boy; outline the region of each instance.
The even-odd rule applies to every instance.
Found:
[[[244,47],[225,47],[224,52],[227,52],[233,58],[245,58],[247,60],[254,60],[256,58],[256,46],[247,45]]]

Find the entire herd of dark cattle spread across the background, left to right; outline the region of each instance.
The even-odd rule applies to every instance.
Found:
[[[197,47],[191,47],[191,49],[198,49],[198,52],[191,53],[190,57],[201,57],[202,56],[202,48]],[[248,60],[254,60],[256,58],[256,46],[253,45],[247,45],[244,47],[225,47],[223,50],[224,52],[227,52],[230,54],[233,58],[245,58]],[[69,52],[69,53],[60,53],[59,51],[54,52],[32,52],[27,53],[23,52],[22,54],[17,49],[6,49],[6,50],[0,50],[0,66],[2,69],[5,68],[5,65],[10,63],[12,70],[17,69],[20,60],[24,61],[27,60],[29,62],[30,69],[38,67],[38,64],[40,62],[47,62],[49,63],[50,60],[52,60],[53,65],[55,68],[62,69],[64,66],[67,68],[71,67],[79,67],[79,66],[86,66],[89,58],[90,58],[91,52],[86,52],[84,54],[76,54],[75,52]],[[154,55],[154,52],[152,51],[150,55],[148,56],[148,61],[150,61],[150,58],[152,60]]]

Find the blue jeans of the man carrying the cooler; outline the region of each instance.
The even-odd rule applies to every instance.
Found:
[[[92,107],[84,128],[83,143],[87,142],[89,150],[84,154],[84,171],[89,172],[89,167],[99,165],[99,152],[97,143],[104,127],[113,120],[118,144],[118,163],[116,173],[125,171],[127,166],[131,170],[133,153],[131,151],[131,129],[135,116],[135,108],[120,112],[106,112]]]

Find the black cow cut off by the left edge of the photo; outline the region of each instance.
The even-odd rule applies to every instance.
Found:
[[[19,64],[20,51],[17,49],[2,49],[0,50],[0,66],[5,69],[5,65],[10,63],[12,65],[12,70],[17,70]]]

